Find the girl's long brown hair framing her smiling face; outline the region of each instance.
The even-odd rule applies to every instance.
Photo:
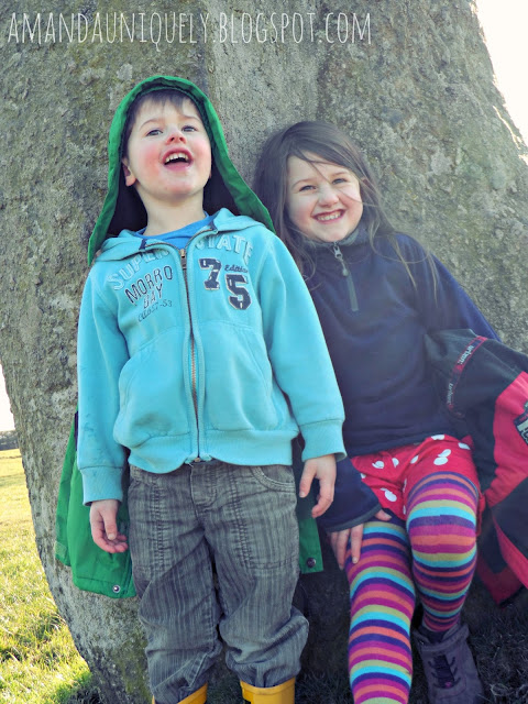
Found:
[[[286,208],[290,156],[297,156],[309,164],[320,161],[338,164],[355,174],[363,201],[361,221],[366,227],[371,246],[376,251],[376,235],[389,238],[397,258],[403,262],[415,284],[409,262],[405,261],[394,237],[395,229],[383,210],[380,187],[366,158],[338,127],[319,121],[297,122],[268,138],[256,164],[253,186],[258,198],[270,210],[278,237],[290,251],[302,274],[310,276],[314,273],[314,262],[309,249],[306,248],[305,235],[292,222]]]

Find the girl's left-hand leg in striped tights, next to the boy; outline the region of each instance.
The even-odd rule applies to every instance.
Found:
[[[365,524],[360,561],[345,562],[350,583],[350,686],[355,704],[407,704],[413,676],[410,620],[415,591],[405,526]]]

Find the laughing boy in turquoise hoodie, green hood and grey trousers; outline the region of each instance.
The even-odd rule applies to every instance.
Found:
[[[156,704],[206,701],[217,628],[244,698],[293,704],[307,624],[290,607],[290,443],[300,429],[300,495],[320,481],[314,516],[332,501],[343,451],[315,309],[193,84],[136,86],[113,119],[109,158],[78,345],[78,466],[94,540],[128,549],[116,518],[128,462]]]

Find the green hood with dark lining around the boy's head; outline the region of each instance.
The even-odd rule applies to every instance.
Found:
[[[167,88],[185,92],[193,100],[211,142],[212,175],[204,190],[204,208],[210,213],[220,208],[229,208],[233,215],[250,216],[273,231],[270,213],[229,157],[222,125],[209,98],[185,78],[152,76],[138,84],[121,100],[113,117],[108,140],[108,193],[88,244],[88,263],[92,262],[107,238],[117,237],[121,230],[136,231],[146,226],[143,204],[135,190],[124,185],[121,167],[124,125],[130,107],[138,96]]]

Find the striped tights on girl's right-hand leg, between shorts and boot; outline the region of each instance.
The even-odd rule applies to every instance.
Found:
[[[407,499],[413,576],[424,627],[443,634],[460,620],[476,564],[477,493],[454,472],[419,481]]]

